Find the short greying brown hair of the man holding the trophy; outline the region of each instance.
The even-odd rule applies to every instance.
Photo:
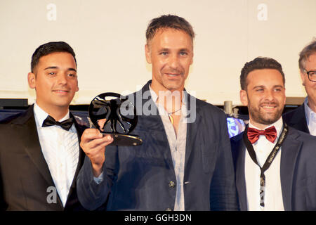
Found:
[[[161,15],[158,18],[154,18],[150,21],[149,25],[147,26],[146,30],[146,40],[148,42],[154,37],[157,30],[163,28],[172,28],[176,30],[182,30],[189,34],[192,41],[195,39],[195,32],[193,31],[192,26],[190,25],[187,20],[181,18],[178,15]]]

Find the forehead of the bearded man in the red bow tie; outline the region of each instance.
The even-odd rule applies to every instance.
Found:
[[[275,69],[253,70],[249,72],[246,82],[249,87],[275,85],[284,86],[282,74]]]

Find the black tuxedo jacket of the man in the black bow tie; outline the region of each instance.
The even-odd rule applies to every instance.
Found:
[[[75,122],[80,140],[83,127]],[[0,124],[0,206],[1,210],[84,210],[79,203],[76,179],[84,161],[79,150],[79,164],[65,208],[57,193],[57,203],[49,204],[49,186],[55,186],[41,152],[33,105],[24,113]],[[57,192],[57,191],[56,191]]]

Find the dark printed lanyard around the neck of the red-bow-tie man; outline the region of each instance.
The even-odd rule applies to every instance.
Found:
[[[251,157],[251,159],[254,161],[254,163],[256,163],[256,165],[258,165],[258,167],[261,170],[261,174],[260,174],[260,205],[262,207],[265,206],[265,202],[264,202],[264,196],[265,196],[265,174],[264,172],[269,169],[270,165],[272,164],[272,161],[275,159],[275,155],[277,155],[277,152],[279,151],[279,148],[281,148],[282,143],[284,141],[284,139],[287,137],[287,133],[289,131],[289,128],[287,127],[287,124],[284,123],[284,127],[282,129],[282,133],[279,136],[279,139],[277,139],[277,143],[275,144],[275,147],[272,149],[270,155],[268,156],[267,160],[265,160],[265,164],[263,165],[263,167],[261,167],[258,164],[257,161],[257,157],[256,157],[256,153],[254,151],[254,146],[252,146],[251,142],[248,139],[247,136],[247,131],[248,131],[248,126],[246,127],[245,131],[244,131],[244,144],[246,146],[246,149],[248,150],[248,153]]]

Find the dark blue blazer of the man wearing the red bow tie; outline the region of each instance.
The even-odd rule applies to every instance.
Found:
[[[247,210],[244,163],[246,147],[241,134],[230,139],[240,210]],[[281,150],[281,186],[284,210],[316,210],[316,137],[289,127]],[[273,162],[272,162],[273,163]]]

